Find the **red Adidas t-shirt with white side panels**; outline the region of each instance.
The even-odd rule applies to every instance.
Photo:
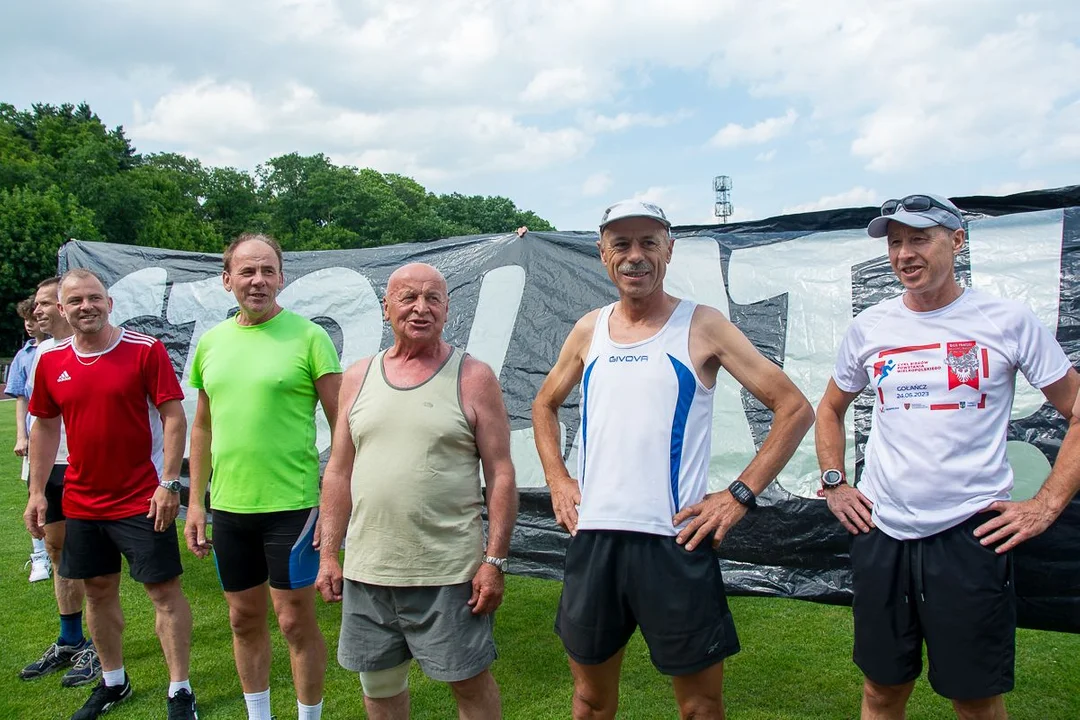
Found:
[[[64,417],[64,515],[116,520],[149,512],[164,459],[158,406],[183,397],[165,347],[148,335],[122,330],[92,355],[77,353],[71,338],[42,353],[29,411]]]

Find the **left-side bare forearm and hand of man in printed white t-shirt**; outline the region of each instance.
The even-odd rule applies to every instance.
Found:
[[[814,445],[818,450],[818,465],[822,472],[839,470],[847,474],[843,467],[846,433],[843,416],[848,408],[859,397],[859,393],[840,390],[836,381],[828,379],[825,394],[818,405],[818,424],[814,426]],[[874,527],[870,511],[874,507],[866,495],[851,485],[843,485],[823,490],[829,511],[836,519],[847,528],[848,532],[869,532]]]

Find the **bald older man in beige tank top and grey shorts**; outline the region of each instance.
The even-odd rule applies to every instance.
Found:
[[[346,371],[323,477],[315,586],[342,602],[338,662],[360,673],[372,720],[408,718],[414,658],[460,718],[501,717],[488,667],[517,515],[510,420],[491,368],[443,341],[447,303],[431,266],[390,275],[394,343]]]

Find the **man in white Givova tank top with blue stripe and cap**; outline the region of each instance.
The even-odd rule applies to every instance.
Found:
[[[664,291],[670,229],[650,203],[607,209],[597,245],[619,300],[578,321],[532,404],[555,518],[571,534],[555,629],[573,674],[575,718],[615,717],[623,649],[638,626],[653,664],[672,676],[681,717],[724,717],[724,658],[739,639],[713,549],[813,422],[802,393],[723,313]],[[710,493],[721,368],[773,423],[751,464]],[[558,408],[579,383],[573,478]]]

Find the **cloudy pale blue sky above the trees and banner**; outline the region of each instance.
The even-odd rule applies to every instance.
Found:
[[[0,101],[86,101],[139,152],[325,153],[559,230],[1080,182],[1080,3],[38,0]]]

